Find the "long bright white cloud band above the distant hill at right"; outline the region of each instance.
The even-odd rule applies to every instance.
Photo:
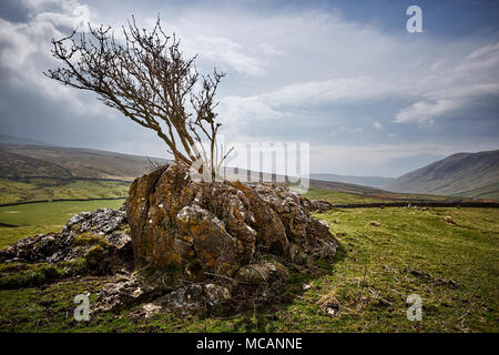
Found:
[[[499,45],[486,45],[454,67],[445,65],[447,60],[442,59],[432,64],[429,71],[422,74],[417,72],[413,78],[401,74],[400,79],[388,80],[376,77],[333,78],[284,85],[268,93],[240,98],[238,101],[246,101],[246,110],[255,104],[259,110],[265,106],[274,112],[274,116],[279,116],[276,113],[279,108],[288,110],[291,106],[411,98],[415,102],[399,109],[393,122],[428,126],[434,125],[439,118],[468,105],[477,97],[499,95],[498,54]]]

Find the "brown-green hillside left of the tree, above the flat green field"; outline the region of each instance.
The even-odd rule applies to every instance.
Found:
[[[147,172],[151,161],[90,149],[0,143],[0,204],[124,199],[130,182]]]

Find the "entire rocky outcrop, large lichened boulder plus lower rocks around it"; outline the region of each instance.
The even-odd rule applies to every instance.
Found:
[[[327,206],[285,186],[194,181],[165,165],[138,179],[119,211],[81,213],[60,233],[1,250],[0,287],[106,276],[92,312],[142,305],[135,313],[143,317],[226,314],[249,296],[278,302],[291,270],[310,273],[310,261],[333,257],[338,246],[313,209]]]

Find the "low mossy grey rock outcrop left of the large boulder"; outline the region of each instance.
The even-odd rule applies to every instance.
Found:
[[[131,242],[124,207],[103,209],[77,214],[60,233],[29,236],[4,247],[0,262],[64,265],[84,260],[85,272],[113,274],[133,266]]]

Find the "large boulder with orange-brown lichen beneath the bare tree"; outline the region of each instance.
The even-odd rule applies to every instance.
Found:
[[[134,181],[126,204],[135,266],[176,264],[234,276],[257,250],[292,262],[332,256],[337,242],[312,217],[309,201],[283,185],[204,182],[165,165]]]

